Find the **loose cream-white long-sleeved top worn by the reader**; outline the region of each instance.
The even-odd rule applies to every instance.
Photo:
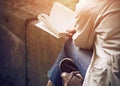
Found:
[[[120,1],[83,2],[77,4],[73,42],[80,48],[94,49],[83,86],[119,86]]]

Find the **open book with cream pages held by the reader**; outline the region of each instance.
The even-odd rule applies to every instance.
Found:
[[[75,12],[66,6],[55,2],[50,15],[41,13],[39,22],[35,25],[49,34],[60,38],[67,34],[66,29],[74,28]]]

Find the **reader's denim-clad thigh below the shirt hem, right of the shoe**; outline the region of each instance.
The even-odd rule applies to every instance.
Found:
[[[92,50],[80,49],[76,47],[71,40],[66,42],[65,51],[68,57],[73,59],[74,63],[81,72],[81,75],[85,77],[87,68],[90,64],[92,57]]]

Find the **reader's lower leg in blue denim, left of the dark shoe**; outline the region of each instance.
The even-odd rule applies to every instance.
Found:
[[[59,53],[56,62],[52,66],[52,68],[48,71],[48,78],[54,84],[53,86],[62,86],[62,78],[60,77],[61,71],[59,69],[60,61],[66,57],[64,52],[64,48],[62,48],[61,52]],[[50,82],[50,84],[51,84]],[[50,85],[49,85],[50,86]]]

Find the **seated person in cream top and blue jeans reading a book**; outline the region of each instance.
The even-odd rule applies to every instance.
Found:
[[[74,30],[48,71],[47,86],[62,86],[59,63],[71,58],[83,86],[120,85],[120,0],[80,0]]]

